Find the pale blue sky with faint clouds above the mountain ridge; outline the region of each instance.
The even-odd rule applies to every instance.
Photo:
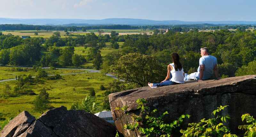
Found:
[[[0,0],[7,18],[256,21],[256,0]]]

